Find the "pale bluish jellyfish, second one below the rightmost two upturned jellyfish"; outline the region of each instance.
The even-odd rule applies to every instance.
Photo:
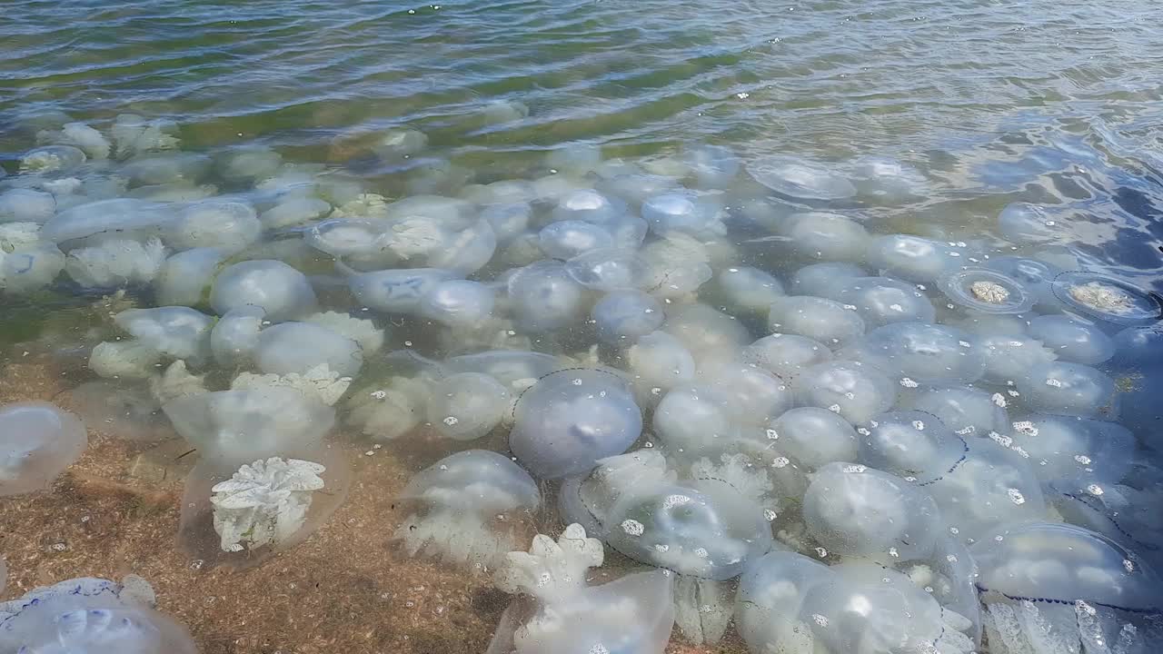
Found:
[[[1064,361],[1041,363],[1027,369],[1015,383],[1022,406],[1032,411],[1107,420],[1119,415],[1114,379],[1089,365]]]

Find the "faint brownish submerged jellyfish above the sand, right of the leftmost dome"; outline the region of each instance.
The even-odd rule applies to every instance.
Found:
[[[141,386],[85,382],[62,396],[60,404],[94,432],[143,442],[173,438],[162,405]]]

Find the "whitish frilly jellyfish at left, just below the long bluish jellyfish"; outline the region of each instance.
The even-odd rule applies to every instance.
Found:
[[[144,242],[109,239],[70,250],[64,269],[86,289],[148,284],[157,277],[165,255],[165,246],[157,237]]]

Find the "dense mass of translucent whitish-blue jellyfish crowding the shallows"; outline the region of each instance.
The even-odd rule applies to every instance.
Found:
[[[940,182],[705,144],[507,177],[392,130],[387,183],[133,115],[37,140],[0,289],[105,299],[41,342],[79,418],[0,410],[0,495],[50,488],[83,421],[165,422],[198,457],[179,547],[258,566],[371,441],[420,463],[368,538],[513,595],[490,654],[1163,647],[1163,306],[1062,246],[1070,212],[886,220]],[[0,605],[2,642],[188,647],[63,583]]]

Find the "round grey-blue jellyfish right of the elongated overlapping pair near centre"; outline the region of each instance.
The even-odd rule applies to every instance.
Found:
[[[518,325],[529,332],[562,329],[573,325],[585,311],[585,287],[555,261],[540,261],[514,272],[508,296]]]

